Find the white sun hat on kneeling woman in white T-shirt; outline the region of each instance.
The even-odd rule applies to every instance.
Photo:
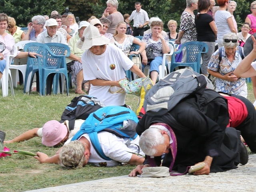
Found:
[[[84,42],[81,46],[81,50],[87,50],[90,49],[92,46],[106,45],[109,43],[109,39],[105,36],[101,36],[98,28],[93,25],[89,25],[88,27],[86,27],[83,36]],[[78,46],[78,48],[80,47]]]

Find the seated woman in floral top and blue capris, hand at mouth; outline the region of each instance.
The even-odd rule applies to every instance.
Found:
[[[153,21],[150,26],[152,33],[145,34],[142,38],[142,42],[146,43],[146,48],[151,47],[155,59],[152,60],[150,64],[150,78],[156,83],[159,74],[159,66],[162,64],[163,56],[165,53],[170,52],[169,48],[169,38],[168,36],[162,36],[161,32],[164,28],[164,24],[162,21]],[[142,69],[144,69],[144,65],[148,64],[148,60],[146,59],[146,64],[142,62]]]

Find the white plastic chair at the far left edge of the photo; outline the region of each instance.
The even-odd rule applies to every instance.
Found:
[[[9,69],[9,66],[12,62],[12,59],[17,55],[17,52],[18,52],[18,50],[17,50],[16,46],[14,45],[12,48],[12,55],[7,55],[7,57],[6,57],[6,66],[5,66],[3,76],[1,79],[3,97],[8,96],[8,84],[10,84],[10,89],[11,89],[12,95],[14,96],[14,90],[13,90],[13,84],[12,84],[12,74]]]

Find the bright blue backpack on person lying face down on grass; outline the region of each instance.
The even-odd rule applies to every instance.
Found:
[[[123,127],[124,120],[128,120],[129,126]],[[118,137],[126,137],[133,140],[138,136],[135,130],[137,123],[138,118],[136,114],[129,108],[121,106],[102,107],[88,116],[82,124],[80,131],[72,138],[72,141],[77,140],[84,133],[88,133],[92,146],[99,156],[105,160],[111,160],[105,156],[100,147],[98,132],[107,131]]]

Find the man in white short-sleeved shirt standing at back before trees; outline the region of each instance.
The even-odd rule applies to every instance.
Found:
[[[143,36],[149,21],[148,13],[141,8],[140,2],[135,3],[135,8],[136,10],[132,12],[128,20],[128,23],[130,23],[133,20],[133,36]]]

